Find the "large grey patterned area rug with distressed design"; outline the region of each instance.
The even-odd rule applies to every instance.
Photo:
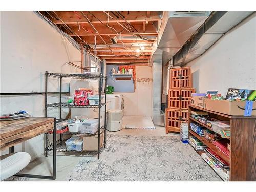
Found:
[[[66,181],[221,181],[179,136],[108,135],[100,159],[84,157]]]

